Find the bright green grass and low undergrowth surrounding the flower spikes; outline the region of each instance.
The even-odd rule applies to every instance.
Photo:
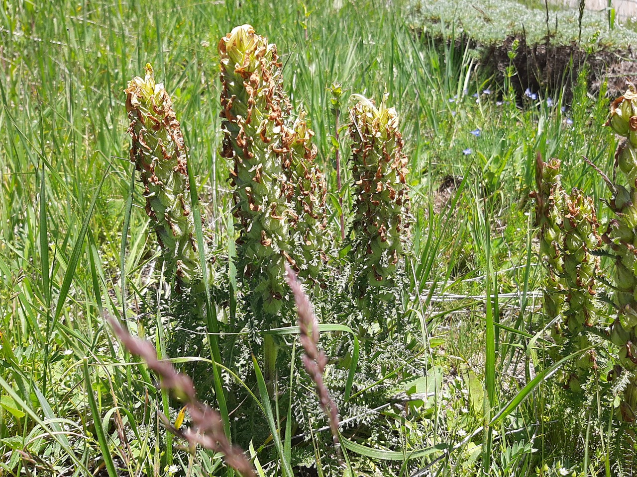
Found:
[[[501,18],[489,23],[494,28],[523,18],[499,11]],[[229,165],[219,154],[217,43],[245,23],[278,46],[285,90],[316,132],[336,245],[341,209],[334,153],[338,147],[345,164],[350,143],[343,131],[340,141],[331,138],[327,88],[334,81],[347,95],[362,93],[377,103],[389,93],[405,142],[413,224],[401,312],[390,333],[353,307],[333,312],[320,298],[315,303],[324,327],[320,345],[332,359],[329,390],[342,417],[355,417],[341,429],[347,469],[336,459],[329,431],[319,430],[326,422],[301,366],[296,329],[275,332],[285,349],[277,366],[288,380],[263,394],[247,338],[222,336],[234,347],[224,350],[225,368],[218,368],[214,384],[222,381],[225,389],[233,441],[263,475],[284,475],[285,462],[298,475],[631,474],[634,445],[618,436],[633,431],[608,418],[612,394],[596,394],[601,388],[591,378],[587,389],[594,397],[573,399],[549,373],[528,198],[539,151],[562,161],[567,190],[587,190],[599,220],[610,218],[601,202],[608,197],[603,181],[582,157],[611,173],[616,139],[603,128],[609,100],[604,90],[589,93],[585,73],[568,100],[541,90],[520,99],[512,86],[515,68],[502,80],[480,69],[469,48],[415,36],[411,13],[382,1],[3,4],[1,476],[27,469],[64,476],[113,477],[112,469],[125,476],[230,474],[219,455],[189,454],[164,430],[157,411],[175,423],[180,403],[158,391],[157,378],[112,339],[103,317],[126,322],[161,357],[167,348],[189,350],[176,361],[195,373],[199,397],[218,408],[211,349],[203,339],[210,321],[196,329],[167,325],[170,284],[129,162],[123,91],[153,64],[190,148],[213,232],[210,253],[227,263],[235,233]],[[457,8],[457,15],[483,22],[472,6]],[[445,19],[453,16],[447,8]],[[599,41],[606,41],[603,24],[599,28]],[[540,26],[531,31],[540,38]],[[590,38],[585,32],[582,38]],[[349,216],[352,174],[347,167],[343,174]],[[233,284],[226,285],[210,296],[224,325],[236,305]],[[352,364],[354,335],[361,354]],[[189,348],[187,340],[203,344]],[[254,396],[233,373],[252,384]],[[247,409],[253,418],[245,418]],[[303,429],[287,429],[292,411]],[[282,441],[273,438],[271,425]],[[285,439],[292,433],[294,439]]]

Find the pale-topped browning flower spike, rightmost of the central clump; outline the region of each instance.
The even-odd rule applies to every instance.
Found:
[[[379,107],[354,95],[352,109],[352,176],[354,218],[352,273],[358,298],[388,301],[399,283],[410,224],[406,187],[407,157],[398,130],[396,109]]]

